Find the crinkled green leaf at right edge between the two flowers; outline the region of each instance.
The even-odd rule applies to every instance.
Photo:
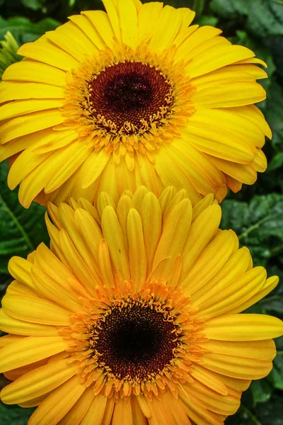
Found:
[[[222,229],[233,229],[248,246],[255,263],[283,252],[283,195],[254,196],[249,203],[226,199],[221,203]]]

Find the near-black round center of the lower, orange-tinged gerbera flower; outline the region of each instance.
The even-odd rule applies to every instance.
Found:
[[[168,312],[132,300],[98,320],[92,346],[98,363],[116,378],[146,380],[170,364],[180,345]]]

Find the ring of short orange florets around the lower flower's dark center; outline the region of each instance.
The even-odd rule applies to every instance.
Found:
[[[99,287],[97,299],[84,300],[86,314],[74,314],[70,327],[62,329],[62,335],[69,342],[67,351],[71,352],[71,361],[79,362],[79,373],[86,386],[93,385],[95,394],[103,391],[107,397],[123,397],[131,393],[158,397],[159,393],[169,389],[176,395],[176,385],[193,382],[190,367],[199,361],[201,350],[197,343],[199,338],[202,339],[202,334],[199,334],[202,322],[197,319],[197,310],[182,291],[171,292],[158,280],[146,284],[139,291],[134,290],[130,282],[125,282],[123,288],[109,290]],[[96,349],[96,341],[99,341],[105,319],[113,310],[122,310],[129,305],[149,307],[163,314],[164,324],[171,322],[173,326],[175,345],[170,361],[162,369],[157,368],[147,376],[126,375],[121,378],[100,361],[102,353]]]

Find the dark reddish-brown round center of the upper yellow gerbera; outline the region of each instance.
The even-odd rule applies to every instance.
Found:
[[[166,117],[173,87],[165,75],[142,62],[119,62],[88,81],[88,111],[96,125],[128,134]]]

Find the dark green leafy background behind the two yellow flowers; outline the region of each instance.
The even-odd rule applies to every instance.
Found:
[[[254,50],[268,64],[269,79],[262,84],[267,99],[259,104],[272,128],[272,142],[264,147],[268,169],[257,183],[222,203],[223,229],[232,228],[252,252],[256,266],[277,274],[278,287],[251,312],[283,318],[283,0],[168,0],[164,4],[190,7],[194,23],[217,26],[233,43]],[[103,9],[100,0],[0,0],[0,40],[9,30],[21,45],[82,10]],[[1,50],[0,50],[1,57]],[[262,81],[262,80],[260,80]],[[11,281],[7,263],[12,255],[27,256],[37,244],[48,243],[45,208],[24,210],[16,191],[6,186],[8,165],[0,164],[0,297]],[[277,339],[278,355],[267,378],[254,381],[243,394],[238,413],[227,425],[283,425],[283,339]],[[0,375],[0,387],[5,378]],[[0,425],[25,425],[32,409],[0,404]],[[169,424],[168,424],[169,425]]]

